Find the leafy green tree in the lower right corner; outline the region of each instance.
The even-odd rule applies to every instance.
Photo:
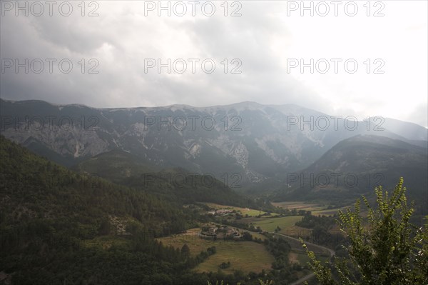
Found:
[[[349,241],[347,257],[336,257],[330,266],[307,250],[320,284],[428,284],[427,223],[424,229],[409,223],[414,210],[413,203],[407,205],[403,179],[399,179],[392,196],[382,186],[374,192],[375,209],[362,197],[367,219],[360,214],[360,199],[354,211],[339,211],[340,228]]]

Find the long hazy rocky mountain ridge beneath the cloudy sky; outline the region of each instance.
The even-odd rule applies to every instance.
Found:
[[[180,167],[218,179],[236,174],[243,185],[281,181],[358,134],[417,146],[428,141],[427,129],[404,121],[356,121],[292,104],[254,102],[95,109],[1,100],[1,134],[66,166],[118,149],[149,168]]]

